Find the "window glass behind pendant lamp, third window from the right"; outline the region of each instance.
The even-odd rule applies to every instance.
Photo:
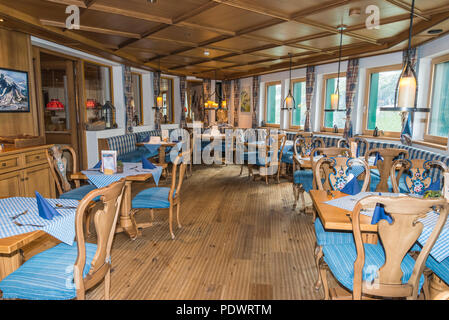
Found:
[[[325,101],[325,109],[332,110],[331,106],[331,96],[335,93],[337,89],[337,83],[339,83],[338,88],[340,92],[340,100],[339,100],[339,110],[346,109],[346,77],[341,77],[340,81],[337,81],[337,77],[327,79],[326,81],[326,101]],[[334,125],[337,125],[339,129],[344,129],[346,123],[346,112],[338,111],[338,112],[325,112],[324,113],[324,127],[325,128],[333,128]]]

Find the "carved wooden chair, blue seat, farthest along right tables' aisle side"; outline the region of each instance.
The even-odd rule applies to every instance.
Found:
[[[293,142],[293,196],[295,197],[293,210],[296,209],[299,197],[301,196],[303,210],[305,211],[304,192],[309,192],[313,188],[312,169],[301,170],[301,164],[297,158],[311,157],[311,161],[313,161],[312,151],[316,148],[324,148],[322,138],[313,137],[313,134],[309,132],[298,133],[295,136],[295,141]]]

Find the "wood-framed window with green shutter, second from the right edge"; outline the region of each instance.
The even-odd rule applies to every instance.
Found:
[[[368,112],[365,117],[364,133],[372,134],[376,127],[386,136],[400,136],[402,130],[401,113],[380,111],[382,107],[393,107],[396,86],[401,75],[401,66],[389,66],[368,70],[366,95]]]

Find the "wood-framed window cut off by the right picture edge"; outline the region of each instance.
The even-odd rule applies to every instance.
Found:
[[[427,130],[424,139],[447,144],[449,134],[449,56],[432,61]]]

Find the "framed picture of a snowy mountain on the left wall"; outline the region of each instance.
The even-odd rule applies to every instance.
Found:
[[[30,112],[28,72],[0,68],[0,112]]]

